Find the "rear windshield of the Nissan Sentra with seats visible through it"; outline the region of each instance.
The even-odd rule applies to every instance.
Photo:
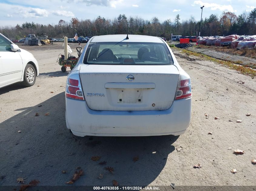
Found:
[[[98,42],[86,49],[84,64],[96,65],[172,65],[165,43]]]

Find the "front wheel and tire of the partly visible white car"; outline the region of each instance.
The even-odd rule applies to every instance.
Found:
[[[36,71],[33,65],[27,64],[24,70],[22,85],[30,87],[35,84]]]

